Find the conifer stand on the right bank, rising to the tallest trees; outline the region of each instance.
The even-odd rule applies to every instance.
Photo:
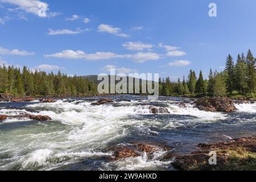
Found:
[[[232,55],[226,58],[226,67],[222,72],[210,69],[208,79],[204,79],[200,71],[197,78],[195,71],[190,70],[187,80],[178,79],[173,83],[170,77],[159,79],[159,93],[162,96],[174,95],[200,95],[200,96],[226,96],[227,94],[241,94],[254,96],[256,89],[256,59],[250,49],[245,57],[238,54],[236,63]]]

